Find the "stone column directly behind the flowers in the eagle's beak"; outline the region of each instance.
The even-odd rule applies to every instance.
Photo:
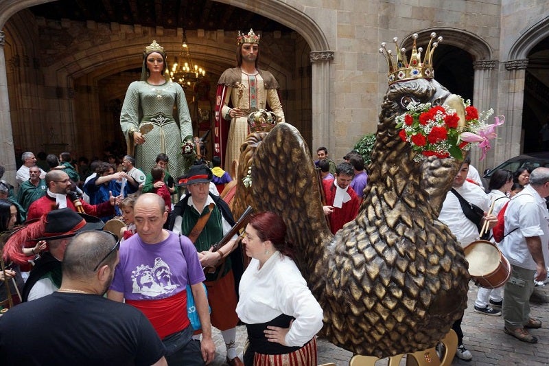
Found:
[[[479,112],[487,111],[489,108],[494,108],[497,104],[497,98],[493,98],[492,91],[495,89],[493,80],[493,69],[498,61],[496,60],[480,60],[473,62],[474,73],[474,87],[473,87],[473,104],[478,108]],[[494,111],[497,113],[497,111]],[[471,157],[471,163],[475,165],[480,176],[486,168],[493,168],[494,165],[494,152],[493,148],[495,141],[492,142],[492,149],[483,161],[479,161],[482,156],[482,152],[478,148],[472,148],[469,153]]]

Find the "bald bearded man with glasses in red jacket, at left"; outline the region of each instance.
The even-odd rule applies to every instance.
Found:
[[[71,192],[71,180],[67,173],[62,170],[51,170],[45,177],[47,192],[46,195],[34,201],[29,206],[27,212],[27,221],[35,218],[40,218],[43,214],[47,214],[52,209],[69,207],[73,211],[77,211],[73,199],[67,196]],[[115,197],[110,194],[108,202],[98,205],[89,205],[82,201],[84,213],[91,216],[103,217],[112,216],[114,214]]]

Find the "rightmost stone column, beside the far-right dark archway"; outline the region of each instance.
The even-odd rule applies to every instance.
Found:
[[[504,62],[500,82],[500,110],[505,115],[505,124],[498,131],[498,146],[495,150],[499,162],[522,152],[522,108],[524,105],[524,79],[528,59]]]

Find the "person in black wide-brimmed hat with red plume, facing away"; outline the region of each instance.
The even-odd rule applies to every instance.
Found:
[[[45,240],[48,251],[42,253],[30,271],[23,288],[23,301],[30,301],[54,293],[61,286],[61,262],[65,249],[71,240],[81,231],[100,230],[104,223],[100,218],[64,208],[49,211],[45,220],[44,236],[33,241]],[[32,227],[23,228],[21,230]]]

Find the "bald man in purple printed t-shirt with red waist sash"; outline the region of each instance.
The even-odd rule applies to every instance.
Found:
[[[126,300],[150,320],[167,349],[169,365],[203,365],[215,357],[211,339],[205,275],[194,245],[185,236],[163,229],[167,219],[161,196],[145,193],[134,207],[137,235],[120,245],[120,262],[107,297]],[[202,324],[202,344],[191,341],[187,317],[187,282]]]

